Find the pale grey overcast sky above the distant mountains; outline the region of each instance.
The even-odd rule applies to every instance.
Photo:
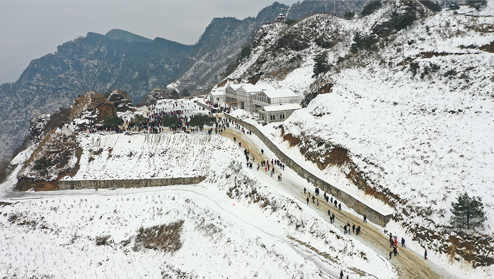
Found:
[[[194,44],[214,17],[244,19],[275,0],[0,0],[0,84],[15,82],[33,59],[88,32],[123,29]],[[278,0],[292,5],[295,0]]]

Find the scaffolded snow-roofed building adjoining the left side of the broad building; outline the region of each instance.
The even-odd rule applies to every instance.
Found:
[[[266,84],[229,85],[226,88],[226,103],[248,111],[254,110],[253,96],[263,90],[274,90],[274,87]]]

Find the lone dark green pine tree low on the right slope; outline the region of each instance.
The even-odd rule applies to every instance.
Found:
[[[451,212],[454,214],[451,217],[451,224],[460,229],[482,226],[487,219],[482,198],[479,196],[470,197],[465,192],[459,195],[456,200],[458,202],[451,203],[453,206]]]

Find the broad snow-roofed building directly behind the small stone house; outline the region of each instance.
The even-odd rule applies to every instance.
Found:
[[[290,89],[263,90],[253,97],[254,111],[261,106],[300,103],[301,97]]]

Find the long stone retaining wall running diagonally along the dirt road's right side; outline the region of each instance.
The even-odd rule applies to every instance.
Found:
[[[236,118],[235,116],[224,113],[225,117],[232,120],[237,121],[238,124],[244,126],[248,130],[250,130],[253,134],[255,134],[259,139],[261,139],[264,144],[280,159],[286,166],[290,167],[294,170],[299,176],[305,178],[308,182],[312,183],[315,187],[319,187],[323,189],[327,193],[331,194],[337,200],[342,201],[346,206],[352,208],[360,215],[367,215],[367,220],[377,224],[379,226],[385,227],[386,224],[391,220],[391,214],[384,215],[375,209],[371,208],[364,202],[354,198],[352,195],[346,193],[345,191],[335,187],[328,182],[320,179],[313,173],[307,171],[295,161],[293,161],[290,157],[288,157],[285,153],[283,153],[278,146],[273,144],[270,139],[268,139],[261,131],[259,131],[254,125],[247,123],[243,120]]]

